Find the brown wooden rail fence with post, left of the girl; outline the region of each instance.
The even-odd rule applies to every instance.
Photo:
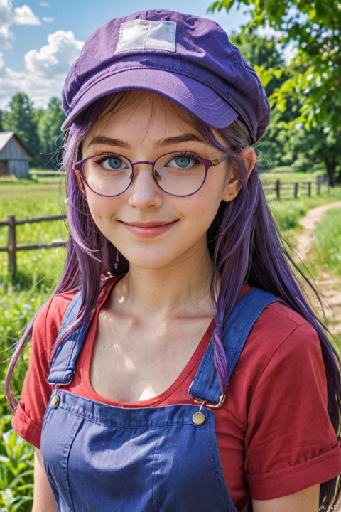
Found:
[[[9,254],[9,272],[11,274],[12,282],[16,277],[16,253],[21,250],[32,249],[53,249],[55,247],[65,247],[66,242],[50,242],[42,244],[17,244],[16,243],[16,226],[22,224],[33,224],[41,222],[50,222],[53,220],[63,220],[65,215],[49,215],[48,217],[33,217],[27,219],[16,220],[16,215],[9,215],[7,220],[0,220],[0,228],[3,226],[9,227],[9,235],[7,238],[7,245],[0,247],[0,252],[8,252]]]

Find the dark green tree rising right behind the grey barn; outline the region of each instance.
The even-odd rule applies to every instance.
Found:
[[[9,109],[4,112],[3,128],[6,132],[16,132],[31,152],[33,165],[40,160],[37,125],[33,103],[23,92],[18,92],[9,102]]]

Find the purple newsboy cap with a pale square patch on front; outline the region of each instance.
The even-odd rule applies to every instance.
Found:
[[[158,9],[104,23],[85,41],[65,80],[62,129],[100,97],[132,89],[167,97],[214,128],[239,117],[252,142],[269,124],[258,75],[206,18]]]

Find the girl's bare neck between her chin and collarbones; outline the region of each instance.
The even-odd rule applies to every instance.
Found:
[[[143,319],[178,316],[210,316],[210,284],[214,266],[207,251],[165,269],[141,269],[131,265],[114,287],[115,306]]]

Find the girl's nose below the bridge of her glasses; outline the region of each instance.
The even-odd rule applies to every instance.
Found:
[[[159,208],[163,203],[161,188],[153,178],[153,167],[149,162],[134,165],[134,179],[128,192],[129,205],[140,210]]]

